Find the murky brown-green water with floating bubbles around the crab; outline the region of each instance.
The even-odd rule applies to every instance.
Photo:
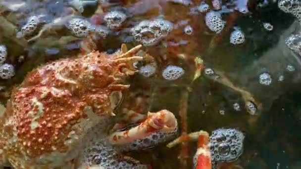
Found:
[[[12,88],[39,65],[77,56],[80,48],[92,51],[91,41],[93,49],[108,54],[122,43],[143,44],[155,66],[143,65],[129,80],[131,92],[143,93],[140,113],[173,112],[179,135],[222,127],[242,131],[242,155],[218,168],[301,169],[300,5],[297,0],[1,0],[0,101],[5,105]],[[194,79],[196,58],[202,70]],[[126,95],[124,101],[133,99]],[[153,169],[193,168],[196,142],[189,142],[187,157],[180,145],[165,145],[130,155]]]

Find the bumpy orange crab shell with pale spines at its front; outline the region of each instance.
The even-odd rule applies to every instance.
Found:
[[[84,57],[61,59],[29,73],[12,91],[7,109],[0,116],[0,147],[10,160],[24,154],[32,163],[52,152],[57,158],[74,159],[87,130],[110,117],[110,94],[128,85],[125,74],[135,72],[131,62],[141,47],[106,55],[93,51]],[[69,152],[69,153],[67,153]],[[44,156],[43,156],[44,157]]]

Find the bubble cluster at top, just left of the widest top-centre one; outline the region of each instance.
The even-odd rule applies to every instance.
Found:
[[[89,32],[95,31],[95,27],[89,21],[80,17],[70,19],[66,26],[74,36],[79,38],[87,37]]]

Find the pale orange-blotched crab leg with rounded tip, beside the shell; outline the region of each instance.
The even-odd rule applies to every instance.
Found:
[[[168,110],[161,110],[157,113],[148,113],[147,119],[137,127],[126,131],[112,133],[108,140],[111,144],[128,144],[134,140],[145,138],[157,131],[168,132],[177,127],[175,116]]]

